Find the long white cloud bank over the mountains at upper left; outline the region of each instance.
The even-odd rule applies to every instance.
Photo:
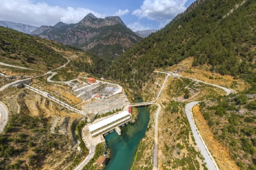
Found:
[[[46,3],[34,4],[30,0],[1,0],[0,5],[0,20],[36,26],[54,25],[59,21],[77,23],[89,13],[93,13],[98,18],[105,17],[105,15],[87,8],[62,8],[59,6],[50,6]]]

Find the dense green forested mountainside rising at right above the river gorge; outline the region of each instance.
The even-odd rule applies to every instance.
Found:
[[[193,66],[255,82],[255,6],[253,0],[198,3],[117,58],[106,75],[141,88],[155,69],[192,56]]]

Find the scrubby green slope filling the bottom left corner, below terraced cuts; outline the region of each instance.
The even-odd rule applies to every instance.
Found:
[[[1,169],[43,169],[65,158],[65,154],[58,154],[59,151],[73,152],[69,148],[73,143],[65,135],[49,132],[48,121],[44,117],[25,114],[10,117],[4,134],[0,134]],[[50,155],[59,159],[43,164]]]

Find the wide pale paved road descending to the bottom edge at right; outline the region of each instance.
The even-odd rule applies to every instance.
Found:
[[[217,164],[215,163],[210,151],[208,150],[207,146],[204,143],[203,138],[201,137],[198,129],[196,128],[196,124],[194,122],[193,113],[191,109],[197,105],[199,101],[193,101],[186,105],[186,115],[188,117],[188,121],[193,132],[193,136],[196,140],[197,148],[201,152],[202,156],[205,158],[204,162],[206,163],[206,167],[209,170],[219,170]]]

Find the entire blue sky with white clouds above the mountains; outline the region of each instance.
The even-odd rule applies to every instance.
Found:
[[[0,20],[35,26],[118,15],[132,30],[160,29],[195,0],[1,0]]]

